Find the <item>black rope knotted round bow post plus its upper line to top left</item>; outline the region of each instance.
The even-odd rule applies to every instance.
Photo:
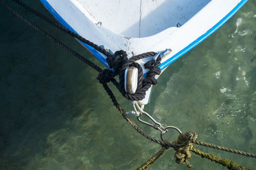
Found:
[[[104,82],[108,83],[109,81],[112,81],[114,83],[114,85],[118,88],[118,90],[121,92],[122,96],[124,96],[126,99],[129,99],[131,101],[140,101],[145,98],[146,92],[151,87],[151,85],[156,85],[157,80],[154,77],[156,76],[156,74],[159,75],[161,73],[161,69],[159,69],[159,67],[158,67],[161,64],[161,57],[158,57],[156,59],[156,62],[154,62],[154,64],[152,64],[151,67],[147,67],[147,64],[145,65],[145,67],[149,69],[146,78],[143,78],[143,70],[142,70],[140,64],[136,63],[136,60],[140,60],[140,59],[143,59],[146,57],[152,57],[152,56],[156,55],[155,52],[142,53],[140,55],[131,57],[131,59],[129,59],[129,60],[127,59],[127,53],[124,52],[123,50],[117,51],[117,52],[115,52],[114,55],[111,55],[104,48],[100,48],[99,46],[95,45],[91,41],[88,41],[88,39],[85,39],[82,36],[79,36],[79,34],[77,34],[76,32],[70,31],[63,25],[51,20],[50,18],[48,18],[45,15],[43,15],[42,13],[34,10],[27,4],[22,3],[19,0],[12,0],[12,1],[19,4],[26,10],[30,11],[31,13],[34,13],[36,16],[42,18],[49,24],[54,25],[54,27],[61,29],[62,31],[69,34],[70,36],[79,39],[80,41],[86,43],[87,45],[90,45],[93,48],[95,48],[95,50],[106,55],[107,56],[106,60],[108,61],[109,67],[113,68],[115,71],[113,72],[108,69],[105,69],[102,72],[99,71],[100,73],[99,73],[97,79],[100,81],[100,83],[104,83]],[[129,93],[125,92],[125,89],[124,89],[124,72],[125,72],[125,69],[129,66],[137,67],[138,73],[139,73],[138,88],[134,94],[129,94]],[[117,83],[116,80],[113,79],[118,74],[119,74],[119,79],[120,79],[119,83]]]

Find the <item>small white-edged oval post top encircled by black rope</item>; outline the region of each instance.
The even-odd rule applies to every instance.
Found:
[[[134,94],[138,86],[138,68],[127,67],[124,73],[124,89],[129,94]]]

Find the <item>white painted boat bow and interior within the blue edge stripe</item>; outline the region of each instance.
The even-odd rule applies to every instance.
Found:
[[[241,0],[47,1],[78,34],[112,52],[122,49],[131,57],[132,52],[172,49],[163,63],[209,31]],[[182,26],[175,27],[177,22]],[[147,103],[150,90],[142,103]]]

